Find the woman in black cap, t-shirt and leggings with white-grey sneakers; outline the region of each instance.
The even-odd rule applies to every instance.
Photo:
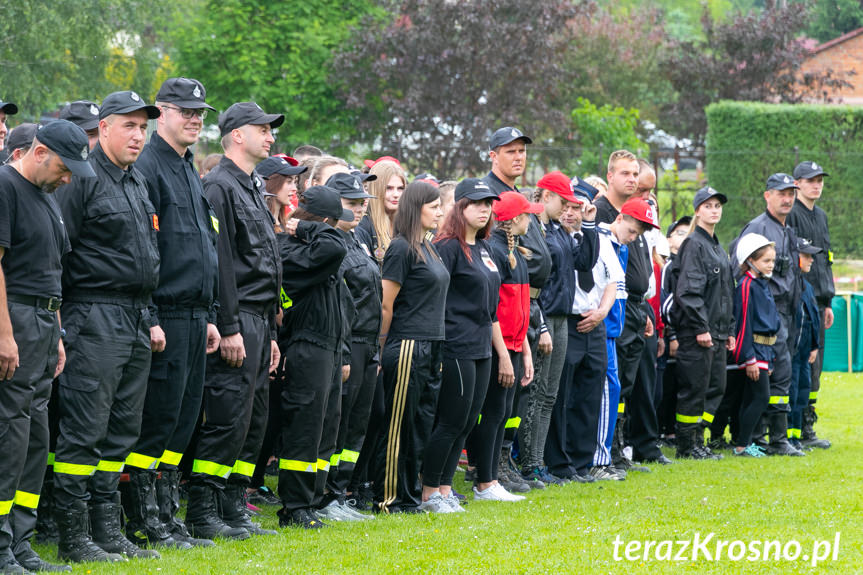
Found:
[[[492,331],[500,275],[486,242],[497,195],[477,178],[456,186],[455,206],[435,238],[450,276],[443,377],[434,430],[423,457],[423,502],[432,513],[463,511],[452,479],[465,438],[479,416],[491,375]],[[494,326],[494,328],[493,328]]]

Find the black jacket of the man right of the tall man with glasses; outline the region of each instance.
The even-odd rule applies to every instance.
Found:
[[[275,339],[282,268],[263,183],[226,156],[203,184],[219,221],[219,333],[238,333],[240,307],[245,307],[266,314]]]

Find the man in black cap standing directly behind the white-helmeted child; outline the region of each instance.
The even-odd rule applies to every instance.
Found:
[[[764,192],[767,210],[743,227],[738,239],[728,250],[732,254],[732,267],[739,269],[739,262],[734,254],[737,241],[741,237],[748,233],[756,233],[776,244],[776,264],[769,284],[782,325],[779,333],[776,334],[776,343],[773,345],[775,358],[773,373],[770,374],[770,403],[766,412],[770,427],[770,445],[767,453],[771,455],[802,455],[802,452],[788,443],[787,437],[791,356],[796,348],[794,310],[800,302],[800,272],[797,266],[799,257],[797,234],[786,225],[786,219],[794,205],[796,191],[797,184],[788,174],[776,173],[767,178],[767,190]],[[761,435],[761,441],[763,441],[763,433]],[[758,438],[755,441],[758,443]]]

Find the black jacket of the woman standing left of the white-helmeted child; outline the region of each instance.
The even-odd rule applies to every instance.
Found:
[[[734,335],[734,279],[716,236],[696,227],[674,261],[678,272],[671,320],[678,338],[710,332],[721,341]]]

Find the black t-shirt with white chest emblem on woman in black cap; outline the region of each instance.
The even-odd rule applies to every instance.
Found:
[[[491,324],[497,320],[500,274],[485,240],[470,248],[471,261],[457,239],[435,244],[449,271],[446,294],[444,356],[455,359],[491,357]]]

